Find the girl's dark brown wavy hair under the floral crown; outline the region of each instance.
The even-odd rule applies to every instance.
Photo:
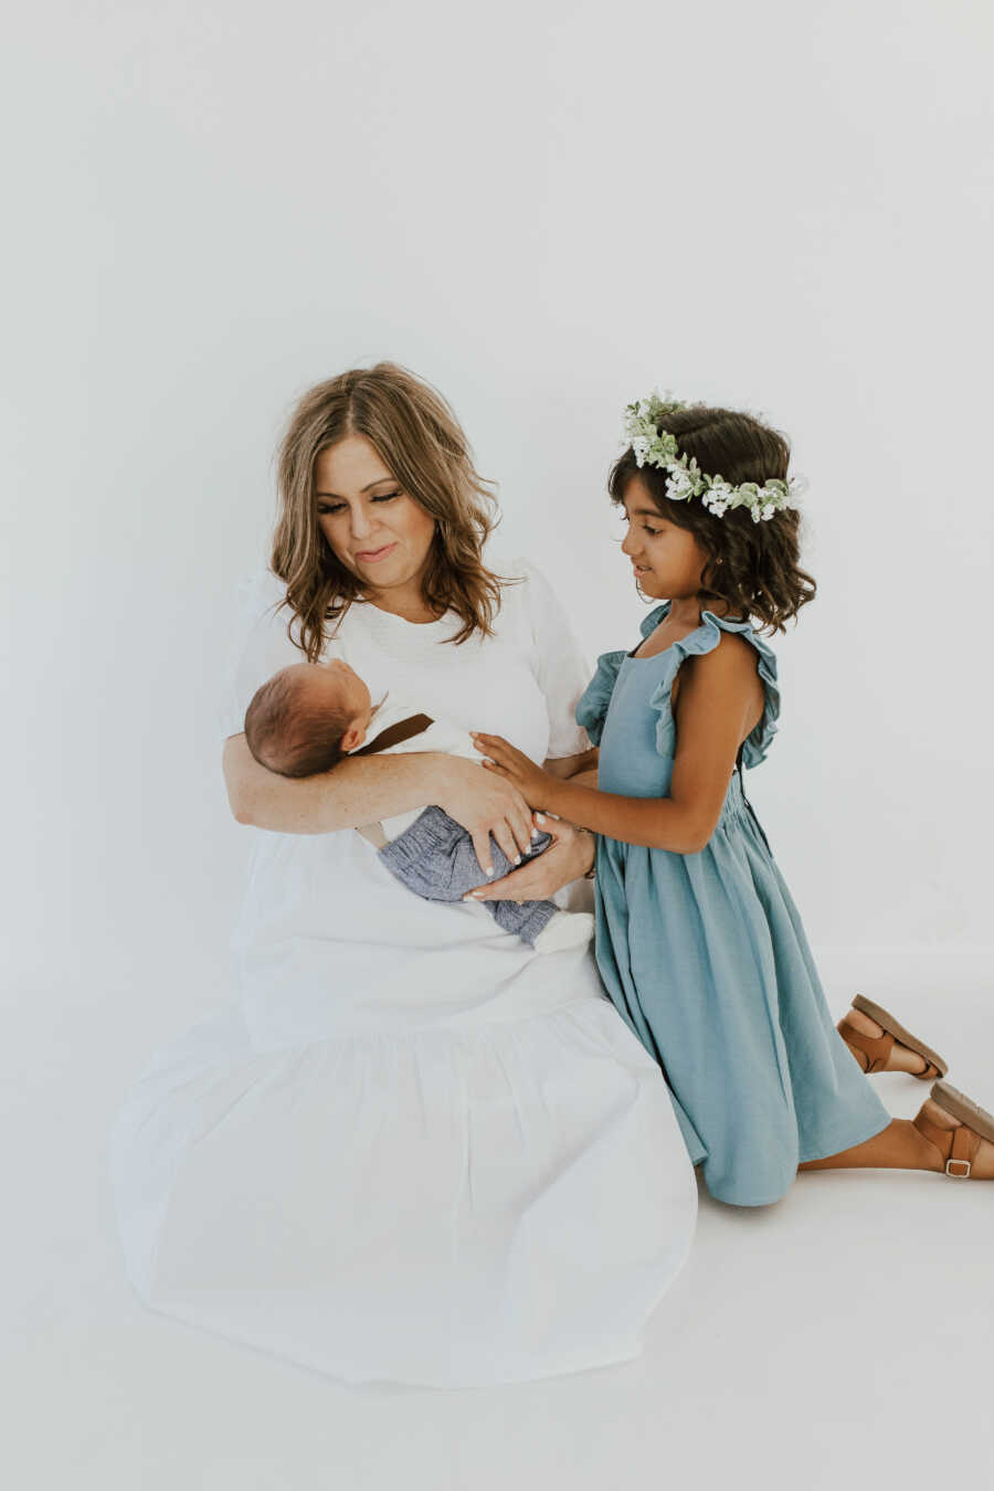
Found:
[[[702,471],[721,476],[732,486],[787,480],[787,437],[751,414],[696,404],[663,414],[657,428],[675,435],[680,453],[694,456]],[[666,471],[648,464],[639,467],[630,446],[608,477],[614,504],[624,502],[633,476],[644,482],[660,517],[688,529],[705,550],[702,601],[724,601],[729,614],[756,617],[762,622],[760,631],[769,632],[787,631],[784,623],[814,601],[817,583],[799,567],[800,514],[794,507],[779,508],[759,523],[753,522],[748,507],[730,507],[717,517],[700,498],[674,501],[666,497]]]

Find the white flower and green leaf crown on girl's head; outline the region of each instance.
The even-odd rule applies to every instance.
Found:
[[[732,486],[720,476],[708,476],[702,471],[693,456],[680,455],[677,437],[666,429],[659,429],[657,420],[665,414],[672,414],[678,409],[687,409],[680,400],[660,398],[653,392],[648,398],[639,398],[636,404],[627,404],[624,410],[626,443],[635,452],[638,467],[660,467],[669,471],[666,477],[666,497],[674,501],[690,501],[699,497],[709,513],[723,517],[729,507],[748,507],[753,522],[767,520],[784,507],[796,507],[797,495],[806,483],[800,477],[781,482],[776,477],[760,486],[757,482],[741,482]],[[794,501],[788,501],[794,498]]]

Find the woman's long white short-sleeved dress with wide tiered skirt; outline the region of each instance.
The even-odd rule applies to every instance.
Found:
[[[587,748],[589,669],[532,565],[460,646],[353,604],[331,646],[428,714],[536,760]],[[243,586],[224,734],[300,662],[282,586]],[[638,1354],[696,1184],[663,1078],[593,954],[536,956],[422,901],[358,833],[252,835],[237,1002],[148,1063],[110,1167],[153,1309],[349,1382],[523,1381]],[[565,904],[563,892],[557,901]]]

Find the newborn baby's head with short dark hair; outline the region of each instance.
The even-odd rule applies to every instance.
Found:
[[[371,717],[370,690],[349,663],[298,662],[256,689],[244,738],[280,777],[314,777],[362,746]]]

